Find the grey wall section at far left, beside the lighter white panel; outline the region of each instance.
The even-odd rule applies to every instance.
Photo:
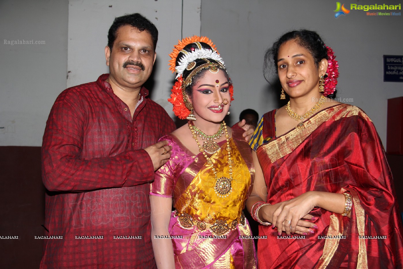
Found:
[[[0,146],[42,144],[50,108],[66,88],[67,20],[67,0],[0,1]]]

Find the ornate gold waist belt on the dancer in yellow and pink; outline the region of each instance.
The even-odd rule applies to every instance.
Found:
[[[245,215],[243,215],[242,211],[241,217],[239,217],[238,219],[234,219],[230,222],[226,222],[222,219],[216,219],[213,224],[204,221],[198,221],[197,219],[194,219],[191,215],[187,213],[179,213],[176,210],[174,211],[174,216],[178,217],[179,225],[181,225],[181,227],[185,229],[189,229],[196,225],[197,228],[199,228],[201,231],[208,229],[212,232],[212,234],[218,236],[227,233],[230,229],[236,229],[239,223],[245,225]]]

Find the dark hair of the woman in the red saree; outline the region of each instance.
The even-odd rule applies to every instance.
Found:
[[[270,70],[272,69],[273,66],[277,73],[277,59],[278,59],[278,50],[280,49],[280,46],[290,40],[295,40],[295,42],[297,42],[299,46],[308,50],[311,53],[312,57],[314,58],[315,65],[317,67],[319,66],[319,63],[322,59],[328,60],[326,46],[322,38],[320,38],[320,35],[318,35],[318,33],[316,33],[315,31],[301,29],[298,31],[291,31],[285,33],[282,36],[280,36],[280,38],[278,38],[276,42],[274,42],[271,48],[266,50],[266,53],[264,55],[263,73],[264,78],[267,81],[269,81]],[[324,77],[326,78],[326,75],[324,75]],[[333,94],[329,94],[327,97],[335,98],[336,91],[334,91]]]

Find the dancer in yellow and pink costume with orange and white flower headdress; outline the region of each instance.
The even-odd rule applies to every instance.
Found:
[[[183,39],[170,56],[177,81],[168,100],[189,123],[160,139],[172,155],[150,191],[157,267],[256,268],[242,213],[254,168],[243,130],[223,121],[233,100],[224,62],[208,38],[197,36]]]

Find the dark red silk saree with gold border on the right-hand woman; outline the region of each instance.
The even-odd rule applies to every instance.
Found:
[[[353,198],[351,218],[315,208],[315,234],[278,238],[259,227],[258,267],[401,268],[402,224],[391,171],[369,117],[338,104],[313,115],[305,129],[275,134],[275,110],[266,113],[250,142],[256,150],[275,204],[308,191]],[[284,236],[285,234],[283,234]]]

